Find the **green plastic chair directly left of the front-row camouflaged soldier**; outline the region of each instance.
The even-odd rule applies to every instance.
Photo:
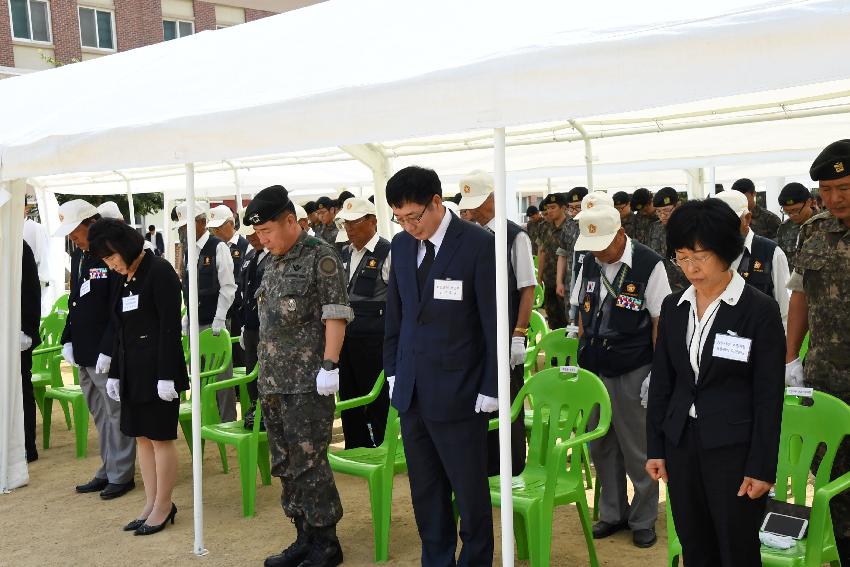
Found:
[[[201,396],[213,398],[213,402],[207,402],[204,406],[214,405],[215,394],[219,390],[239,386],[241,391],[245,384],[257,379],[259,372],[258,365],[248,375],[236,376],[220,382],[209,382],[204,386]],[[239,460],[239,481],[242,484],[242,515],[246,518],[252,517],[255,513],[257,468],[260,469],[262,483],[266,486],[272,483],[269,435],[265,431],[260,431],[261,415],[260,404],[257,404],[254,414],[254,427],[250,431],[245,429],[244,422],[241,419],[201,427],[201,439],[213,441],[218,443],[219,446],[233,445],[236,447],[236,455]],[[223,464],[224,472],[227,473],[227,461],[223,461]]]

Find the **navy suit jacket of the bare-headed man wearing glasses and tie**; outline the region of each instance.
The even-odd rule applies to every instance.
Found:
[[[446,214],[452,214],[446,211]],[[384,338],[384,370],[395,376],[393,406],[407,411],[414,390],[423,417],[472,416],[479,393],[496,397],[496,274],[493,235],[454,215],[419,297],[419,241],[399,233]],[[434,299],[434,279],[463,282],[463,299]]]

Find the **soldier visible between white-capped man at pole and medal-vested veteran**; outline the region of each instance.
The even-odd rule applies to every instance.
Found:
[[[537,241],[537,259],[542,267],[538,278],[543,282],[543,308],[550,329],[567,326],[564,298],[557,293],[558,245],[567,221],[567,199],[563,193],[552,193],[543,200],[549,228]]]

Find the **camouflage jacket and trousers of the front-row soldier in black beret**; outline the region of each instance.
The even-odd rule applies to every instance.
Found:
[[[331,527],[342,518],[328,463],[334,397],[316,392],[316,374],[324,357],[324,321],[354,317],[333,246],[302,232],[267,265],[257,298],[258,387],[272,474],[283,484],[283,511],[309,526]]]

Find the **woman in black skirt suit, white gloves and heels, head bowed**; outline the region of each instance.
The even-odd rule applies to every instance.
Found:
[[[189,388],[180,342],[180,282],[171,264],[143,245],[142,235],[118,220],[102,219],[89,229],[91,251],[125,276],[113,296],[118,331],[106,391],[121,401],[121,431],[136,437],[145,506],[124,526],[135,535],[174,523],[178,392]]]

